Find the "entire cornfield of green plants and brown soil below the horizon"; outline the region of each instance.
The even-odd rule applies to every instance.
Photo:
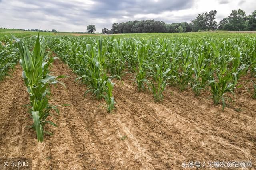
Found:
[[[255,33],[36,34],[0,29],[2,160],[134,170],[256,161]]]

